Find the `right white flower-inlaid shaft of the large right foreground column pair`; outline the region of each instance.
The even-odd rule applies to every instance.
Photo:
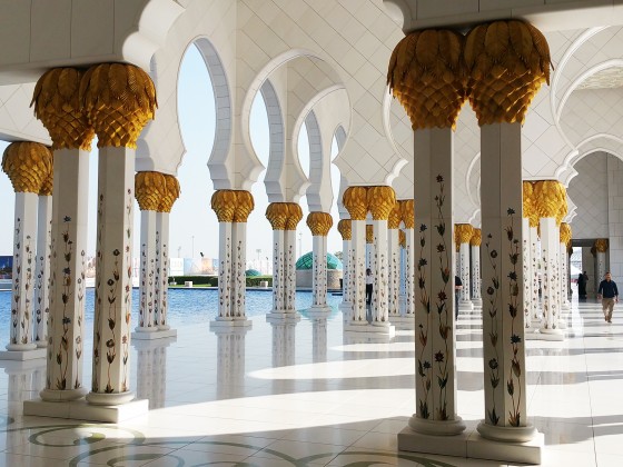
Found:
[[[481,127],[485,417],[478,433],[522,443],[527,420],[524,341],[521,122]]]

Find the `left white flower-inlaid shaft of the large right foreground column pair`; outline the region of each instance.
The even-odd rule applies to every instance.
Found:
[[[453,270],[452,129],[414,133],[415,199],[419,225],[415,251],[416,413],[409,427],[426,435],[457,435]]]

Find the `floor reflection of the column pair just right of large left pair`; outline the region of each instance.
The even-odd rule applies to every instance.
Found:
[[[165,406],[167,394],[167,347],[176,340],[176,337],[167,337],[132,341],[137,350],[137,398],[149,399],[150,409]]]

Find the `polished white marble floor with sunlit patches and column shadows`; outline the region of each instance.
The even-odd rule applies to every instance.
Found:
[[[623,466],[623,306],[612,324],[573,304],[570,337],[528,341],[528,415],[546,466]],[[458,413],[483,416],[479,312],[457,324]],[[24,417],[43,362],[0,362],[1,466],[498,466],[400,453],[414,409],[413,332],[349,339],[342,315],[297,325],[253,319],[218,332],[178,326],[175,340],[132,342],[132,387],[147,416],[119,425]],[[88,345],[86,348],[89,348]],[[90,380],[86,362],[83,381]]]

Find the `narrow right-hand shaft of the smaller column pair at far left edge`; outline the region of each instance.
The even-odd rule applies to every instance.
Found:
[[[37,266],[34,282],[34,332],[37,347],[48,347],[50,312],[50,257],[52,242],[52,196],[39,193],[37,219]]]

